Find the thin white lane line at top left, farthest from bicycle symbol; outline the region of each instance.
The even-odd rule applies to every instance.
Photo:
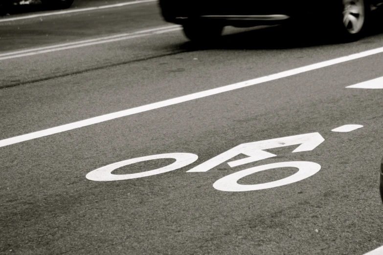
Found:
[[[85,12],[85,11],[92,11],[92,10],[100,10],[100,9],[106,9],[106,8],[121,7],[121,6],[125,6],[125,5],[131,5],[131,4],[137,4],[137,3],[145,3],[145,2],[155,2],[155,1],[157,1],[157,0],[129,1],[129,2],[116,3],[116,4],[102,5],[102,6],[97,6],[97,7],[70,9],[70,10],[65,10],[65,11],[57,11],[57,12],[41,13],[41,14],[22,16],[22,17],[0,19],[0,22],[18,21],[18,20],[25,20],[25,19],[39,18],[39,17],[45,17],[45,16],[74,13],[74,12]]]

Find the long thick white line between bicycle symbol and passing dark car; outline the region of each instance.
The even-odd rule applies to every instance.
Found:
[[[117,111],[117,112],[93,117],[90,119],[69,123],[66,125],[58,126],[58,127],[51,127],[48,129],[37,131],[37,132],[32,132],[32,133],[23,134],[23,135],[19,135],[19,136],[0,140],[0,147],[4,147],[7,145],[11,145],[11,144],[21,143],[24,141],[28,141],[28,140],[32,140],[32,139],[36,139],[36,138],[40,138],[40,137],[44,137],[44,136],[48,136],[48,135],[52,135],[52,134],[65,132],[65,131],[72,130],[75,128],[86,127],[86,126],[90,126],[93,124],[97,124],[97,123],[101,123],[101,122],[129,116],[129,115],[133,115],[136,113],[158,109],[158,108],[165,107],[165,106],[172,106],[172,105],[180,104],[183,102],[187,102],[187,101],[191,101],[191,100],[195,100],[195,99],[199,99],[199,98],[203,98],[203,97],[208,97],[211,95],[216,95],[216,94],[220,94],[223,92],[227,92],[227,91],[231,91],[231,90],[235,90],[235,89],[239,89],[239,88],[243,88],[243,87],[248,87],[248,86],[257,85],[257,84],[261,84],[261,83],[265,83],[265,82],[270,82],[270,81],[274,81],[277,79],[289,77],[289,76],[292,76],[295,74],[300,74],[300,73],[308,72],[311,70],[323,68],[326,66],[360,59],[363,57],[371,56],[371,55],[382,53],[382,52],[383,52],[383,47],[380,47],[380,48],[352,54],[349,56],[340,57],[337,59],[327,60],[327,61],[319,62],[316,64],[310,64],[310,65],[294,68],[291,70],[271,74],[268,76],[259,77],[259,78],[248,80],[245,82],[240,82],[240,83],[235,83],[235,84],[231,84],[231,85],[226,85],[223,87],[208,89],[205,91],[201,91],[201,92],[197,92],[197,93],[193,93],[193,94],[189,94],[189,95],[185,95],[185,96],[180,96],[180,97],[160,101],[160,102],[149,104],[149,105],[138,106],[138,107],[127,109],[127,110]]]

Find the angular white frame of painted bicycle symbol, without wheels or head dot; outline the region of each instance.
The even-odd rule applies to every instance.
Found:
[[[203,162],[201,165],[198,165],[197,167],[192,168],[187,172],[208,171],[239,154],[245,154],[248,157],[228,162],[227,164],[230,167],[236,167],[276,156],[275,154],[272,154],[270,152],[263,151],[264,149],[273,149],[300,144],[300,146],[294,149],[293,152],[313,150],[323,141],[324,138],[319,133],[309,133],[241,144],[234,147],[233,149],[225,151],[224,153],[218,156],[215,156],[212,159],[209,159],[206,162]]]

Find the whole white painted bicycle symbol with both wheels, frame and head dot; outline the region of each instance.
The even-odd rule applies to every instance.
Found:
[[[345,126],[333,129],[332,131],[349,132],[360,127],[362,126],[345,125]],[[296,149],[292,151],[293,153],[295,153],[295,152],[313,150],[323,142],[324,142],[324,138],[319,133],[315,132],[315,133],[307,133],[307,134],[300,134],[300,135],[294,135],[294,136],[287,136],[287,137],[245,143],[245,144],[238,145],[232,149],[229,149],[225,151],[224,153],[221,153],[186,172],[206,172],[208,170],[211,170],[217,167],[218,165],[222,163],[225,163],[226,161],[231,160],[232,158],[236,157],[239,154],[244,154],[248,157],[227,162],[227,164],[231,168],[277,156],[275,154],[265,151],[265,149],[274,149],[274,148],[280,148],[280,147],[286,147],[286,146],[299,145]],[[144,162],[144,161],[155,160],[155,159],[168,159],[168,158],[175,159],[176,161],[170,165],[167,165],[165,167],[155,169],[155,170],[149,170],[149,171],[131,173],[131,174],[113,174],[112,173],[113,170],[131,165],[131,164],[135,164],[138,162]],[[116,162],[116,163],[98,168],[96,170],[93,170],[86,175],[86,178],[92,181],[119,181],[119,180],[128,180],[128,179],[147,177],[147,176],[156,175],[156,174],[165,173],[165,172],[183,168],[185,166],[192,164],[197,159],[198,159],[198,156],[193,153],[165,153],[165,154],[156,154],[156,155],[138,157],[138,158]],[[290,175],[286,178],[268,182],[268,183],[254,184],[254,185],[238,184],[238,181],[241,178],[244,178],[250,174],[264,171],[264,170],[271,170],[276,168],[287,168],[287,167],[297,168],[298,171],[295,172],[293,175]],[[321,167],[319,164],[315,162],[309,162],[309,161],[278,162],[278,163],[273,163],[268,165],[252,167],[252,168],[231,173],[217,180],[213,184],[213,187],[219,191],[256,191],[256,190],[270,189],[270,188],[275,188],[275,187],[291,184],[291,183],[306,179],[314,175],[315,173],[317,173],[320,170],[320,168]]]

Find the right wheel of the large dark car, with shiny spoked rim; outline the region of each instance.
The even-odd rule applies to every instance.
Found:
[[[365,33],[370,18],[368,0],[338,0],[330,15],[330,32],[341,42],[354,42]]]

